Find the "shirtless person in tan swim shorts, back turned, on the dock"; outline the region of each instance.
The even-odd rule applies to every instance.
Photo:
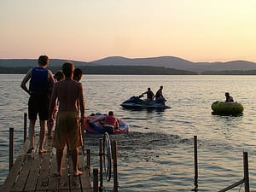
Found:
[[[66,143],[71,150],[73,160],[73,175],[82,174],[79,171],[79,147],[81,146],[79,136],[79,123],[84,123],[84,90],[81,83],[73,80],[74,66],[72,62],[65,62],[62,65],[62,72],[65,79],[56,82],[53,87],[49,103],[49,114],[52,117],[55,108],[55,101],[58,98],[59,110],[57,114],[54,147],[56,148],[57,174],[61,177],[61,165],[63,150]],[[79,101],[79,102],[78,102]],[[80,122],[78,106],[80,109]]]

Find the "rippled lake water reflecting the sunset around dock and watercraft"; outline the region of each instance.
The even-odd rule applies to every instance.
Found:
[[[23,142],[28,96],[24,75],[0,75],[0,184],[8,174],[9,127],[15,128],[15,157]],[[119,148],[119,191],[191,191],[194,188],[193,137],[198,137],[199,191],[218,191],[243,177],[242,152],[248,152],[250,189],[256,191],[256,76],[84,75],[86,114],[123,119],[131,133],[111,136]],[[164,111],[127,110],[119,104],[151,87],[164,86]],[[212,115],[211,104],[229,91],[245,108],[240,116]],[[37,123],[37,131],[38,123]],[[97,166],[97,141],[85,136]],[[97,167],[93,167],[97,168]],[[106,184],[111,191],[113,183]],[[243,184],[230,191],[243,190]]]

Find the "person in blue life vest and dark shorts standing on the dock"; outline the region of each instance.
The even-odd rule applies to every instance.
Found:
[[[31,68],[24,79],[22,80],[20,87],[25,90],[29,95],[28,101],[28,119],[29,122],[29,140],[30,146],[27,153],[31,153],[34,149],[35,139],[35,124],[37,116],[40,119],[40,136],[39,136],[39,154],[43,154],[46,150],[43,148],[46,123],[49,119],[49,97],[50,90],[54,84],[54,78],[48,67],[49,58],[46,55],[40,55],[38,58],[38,67]],[[26,83],[30,80],[29,88],[26,87]]]

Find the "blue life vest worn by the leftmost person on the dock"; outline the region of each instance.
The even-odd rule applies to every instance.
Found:
[[[48,69],[43,67],[32,68],[29,90],[32,94],[49,94]]]

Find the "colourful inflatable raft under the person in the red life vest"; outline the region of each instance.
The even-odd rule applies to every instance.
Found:
[[[84,131],[87,133],[102,134],[105,116],[107,116],[107,114],[96,113],[96,114],[90,114],[90,116],[84,117]],[[88,121],[92,122],[97,119],[103,119],[103,120],[99,120],[94,123],[88,123]],[[128,133],[130,131],[129,125],[126,124],[121,119],[118,119],[118,121],[119,121],[119,129],[115,129],[114,134]]]

